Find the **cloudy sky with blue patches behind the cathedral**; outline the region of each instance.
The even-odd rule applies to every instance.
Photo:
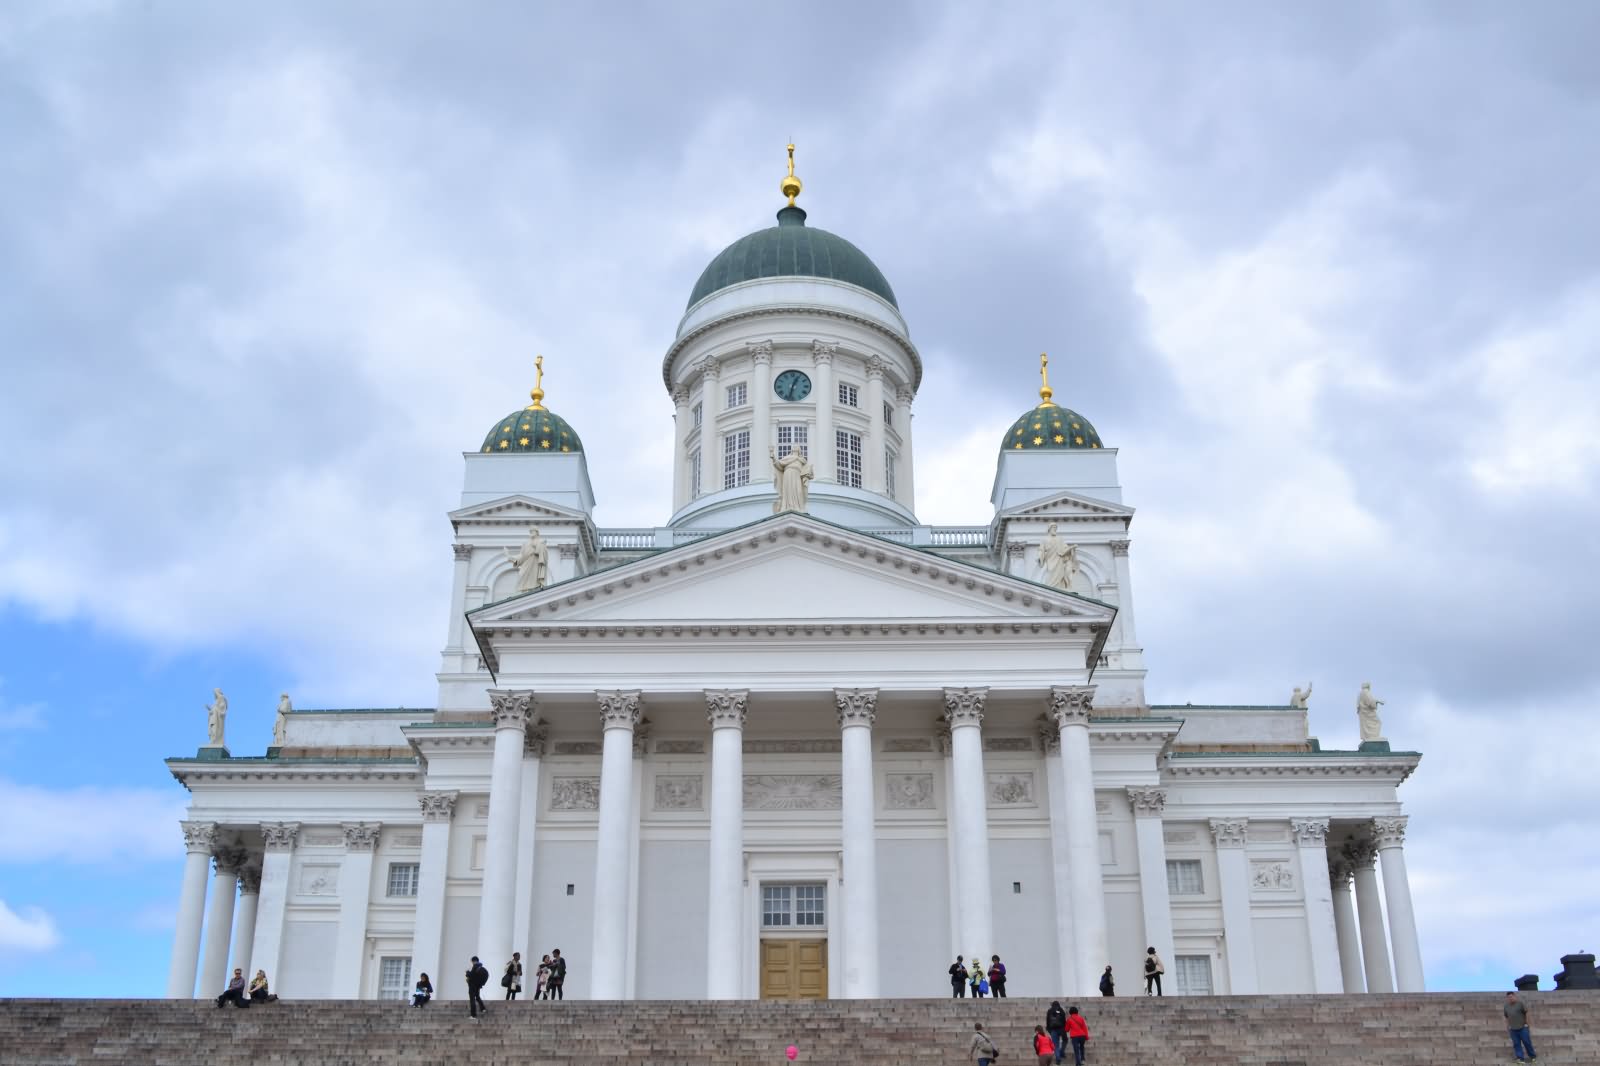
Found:
[[[704,264],[810,224],[925,360],[917,512],[1117,447],[1154,703],[1386,699],[1429,986],[1600,948],[1600,6],[0,6],[0,996],[160,996],[186,794],[432,706],[464,450],[670,511]],[[597,432],[589,426],[616,426]],[[328,610],[338,605],[338,610]]]

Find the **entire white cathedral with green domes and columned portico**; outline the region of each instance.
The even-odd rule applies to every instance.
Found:
[[[664,525],[594,523],[536,387],[464,455],[437,707],[285,706],[264,755],[218,722],[168,762],[168,994],[459,997],[552,948],[589,999],[947,996],[957,954],[1134,994],[1149,946],[1166,994],[1421,991],[1419,755],[1323,751],[1304,699],[1146,703],[1117,450],[1048,381],[992,514],[918,522],[922,359],[784,194],[662,359]]]

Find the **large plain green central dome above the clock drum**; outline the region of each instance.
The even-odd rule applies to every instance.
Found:
[[[805,211],[794,205],[778,211],[778,226],[723,248],[694,282],[688,306],[730,285],[763,277],[826,277],[875,293],[899,309],[888,279],[861,248],[826,229],[808,227]]]

